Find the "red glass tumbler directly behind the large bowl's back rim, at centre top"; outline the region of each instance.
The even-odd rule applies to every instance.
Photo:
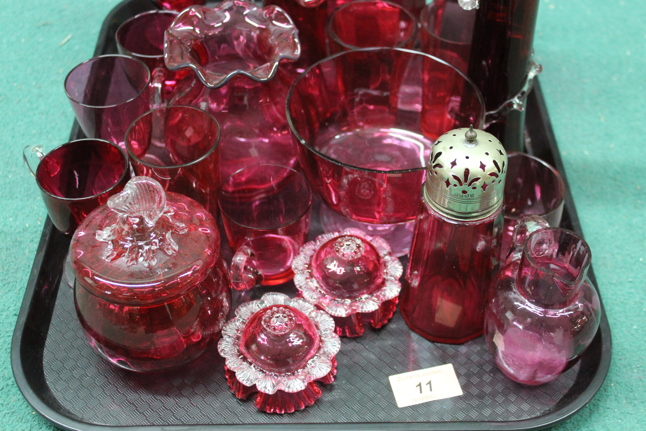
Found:
[[[412,48],[417,19],[384,0],[359,0],[340,6],[328,19],[330,54],[369,47]]]

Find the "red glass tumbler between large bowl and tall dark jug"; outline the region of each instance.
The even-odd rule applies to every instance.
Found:
[[[419,17],[422,52],[441,58],[466,74],[475,12],[461,8],[457,0],[435,0],[424,7]]]

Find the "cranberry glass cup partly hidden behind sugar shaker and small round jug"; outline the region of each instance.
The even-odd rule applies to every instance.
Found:
[[[505,262],[514,228],[521,216],[541,216],[550,226],[558,227],[565,202],[565,182],[552,165],[523,152],[510,152],[507,160],[501,262]]]

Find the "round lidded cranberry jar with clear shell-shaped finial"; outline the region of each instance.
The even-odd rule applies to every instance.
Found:
[[[74,303],[87,339],[128,370],[198,357],[224,326],[229,275],[202,205],[136,176],[74,233]]]

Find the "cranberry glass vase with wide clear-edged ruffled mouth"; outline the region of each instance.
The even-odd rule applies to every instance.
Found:
[[[285,116],[295,72],[278,63],[299,56],[297,29],[276,6],[261,9],[243,0],[192,6],[167,30],[167,67],[193,68],[204,87],[191,105],[213,115],[222,129],[222,180],[256,163],[297,165]]]

